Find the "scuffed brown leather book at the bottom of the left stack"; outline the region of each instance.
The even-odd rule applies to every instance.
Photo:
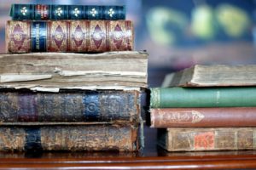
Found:
[[[0,150],[136,151],[138,128],[125,125],[0,127]]]

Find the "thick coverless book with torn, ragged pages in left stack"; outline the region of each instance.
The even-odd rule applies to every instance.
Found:
[[[137,89],[148,85],[148,54],[0,54],[0,88]]]

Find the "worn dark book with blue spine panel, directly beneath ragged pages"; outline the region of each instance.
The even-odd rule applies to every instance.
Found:
[[[0,93],[0,122],[137,122],[137,91]]]

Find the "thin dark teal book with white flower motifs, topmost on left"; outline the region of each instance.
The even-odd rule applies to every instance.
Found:
[[[12,4],[12,20],[125,20],[125,6]]]

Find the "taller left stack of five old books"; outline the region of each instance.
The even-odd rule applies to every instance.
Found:
[[[132,51],[125,7],[14,4],[10,15],[0,150],[139,150],[148,54]]]

